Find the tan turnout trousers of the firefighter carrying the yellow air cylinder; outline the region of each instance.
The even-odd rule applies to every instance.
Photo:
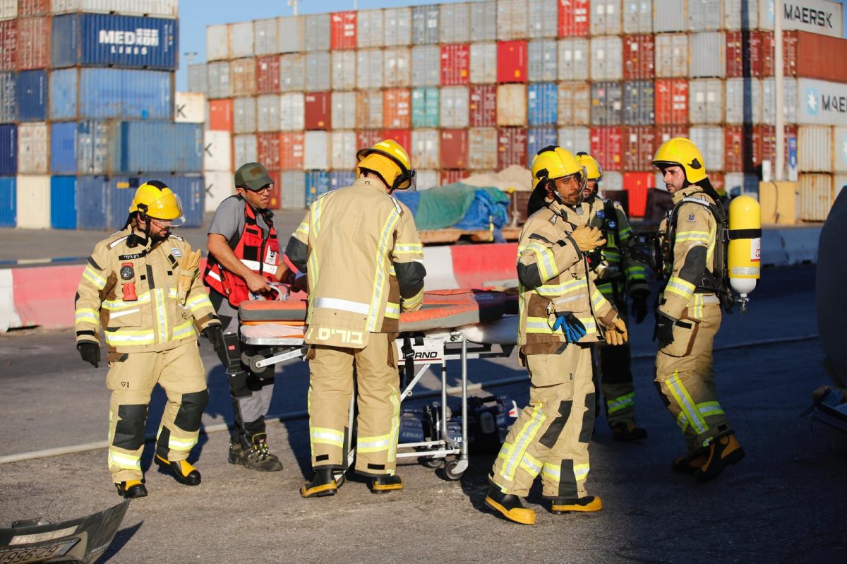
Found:
[[[721,306],[706,303],[698,309],[700,318],[683,319],[675,324],[673,343],[656,354],[656,388],[682,430],[689,454],[732,430],[717,402],[711,357],[715,335],[721,326]]]

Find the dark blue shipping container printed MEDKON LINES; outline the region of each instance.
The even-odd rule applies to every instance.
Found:
[[[114,14],[53,18],[53,68],[118,66],[176,70],[178,20]]]

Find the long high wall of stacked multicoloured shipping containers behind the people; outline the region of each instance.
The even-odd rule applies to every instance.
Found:
[[[496,0],[210,26],[206,73],[191,69],[191,89],[210,98],[210,129],[234,135],[234,165],[259,158],[279,171],[285,207],[343,185],[357,148],[394,136],[422,189],[528,166],[555,142],[587,150],[606,189],[633,192],[638,216],[656,182],[650,158],[671,136],[697,142],[730,190],[755,185],[773,161],[768,6]],[[845,51],[837,37],[784,32],[786,161],[801,176],[847,172],[833,151],[833,124],[847,127],[847,66],[821,57]],[[250,118],[254,107],[265,117]],[[227,112],[231,123],[216,117]],[[268,148],[257,155],[257,145]]]

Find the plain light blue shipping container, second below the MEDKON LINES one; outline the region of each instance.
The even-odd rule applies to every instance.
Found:
[[[111,174],[199,173],[202,124],[123,121],[109,127]]]

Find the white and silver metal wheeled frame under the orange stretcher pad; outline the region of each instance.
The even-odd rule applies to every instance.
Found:
[[[241,342],[245,345],[264,347],[263,350],[254,354],[242,353],[242,361],[254,371],[285,362],[294,358],[306,356],[308,346],[302,337],[247,337],[239,331]],[[469,341],[462,332],[457,329],[445,329],[436,335],[401,334],[397,340],[398,349],[402,346],[402,337],[407,335],[414,350],[412,362],[414,365],[414,376],[403,386],[400,401],[406,400],[414,395],[413,389],[418,384],[424,373],[432,367],[440,366],[441,382],[441,405],[440,405],[440,439],[418,441],[414,443],[399,443],[397,445],[396,458],[425,458],[429,467],[442,467],[446,478],[457,480],[468,469],[468,360],[482,358],[505,358],[512,355],[513,345],[497,345],[495,350],[492,344],[474,343]],[[398,359],[404,366],[404,359]],[[462,386],[462,434],[459,440],[453,440],[447,431],[447,419],[449,418],[447,407],[447,361],[459,361],[461,363],[461,386]],[[405,375],[409,378],[409,374]],[[402,380],[401,380],[402,382]],[[353,429],[355,422],[356,387],[354,379],[353,394],[348,414],[348,429]],[[347,469],[353,465],[356,456],[356,447],[353,445],[352,432],[347,436]],[[401,449],[412,451],[400,451]],[[447,457],[451,456],[448,460]]]

